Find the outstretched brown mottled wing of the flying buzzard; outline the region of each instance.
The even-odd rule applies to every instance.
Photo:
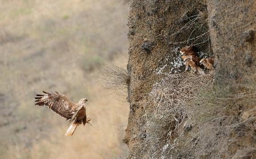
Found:
[[[64,94],[61,93],[48,93],[44,92],[45,94],[36,94],[35,97],[35,105],[46,105],[49,109],[55,111],[55,113],[61,115],[66,119],[71,119],[72,115],[77,111],[77,104],[73,104],[71,101],[68,100]]]

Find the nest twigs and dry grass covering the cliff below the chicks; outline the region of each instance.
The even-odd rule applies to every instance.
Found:
[[[236,84],[242,90],[236,93],[234,85],[232,90],[214,85],[210,74],[174,74],[156,83],[150,93],[154,115],[147,121],[163,136],[157,143],[163,156],[254,158],[256,89],[255,80],[248,79]]]

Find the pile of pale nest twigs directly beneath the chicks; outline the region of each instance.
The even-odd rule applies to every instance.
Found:
[[[191,108],[188,103],[194,100],[201,89],[212,89],[213,75],[196,75],[189,72],[170,74],[167,78],[156,83],[150,97],[156,105],[157,115],[171,114],[177,126],[190,117]]]

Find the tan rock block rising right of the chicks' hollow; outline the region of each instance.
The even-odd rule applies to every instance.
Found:
[[[217,83],[254,75],[255,1],[208,1],[208,15]]]

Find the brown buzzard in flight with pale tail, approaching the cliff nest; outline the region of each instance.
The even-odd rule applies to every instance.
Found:
[[[61,117],[69,119],[69,123],[73,122],[71,126],[68,128],[65,136],[71,136],[76,130],[76,127],[81,123],[84,125],[89,123],[90,118],[86,118],[86,109],[85,103],[86,98],[82,98],[77,104],[69,101],[64,94],[61,93],[48,93],[45,94],[36,94],[35,97],[35,105],[40,106],[48,106],[49,109],[55,111],[55,113],[59,114]]]

